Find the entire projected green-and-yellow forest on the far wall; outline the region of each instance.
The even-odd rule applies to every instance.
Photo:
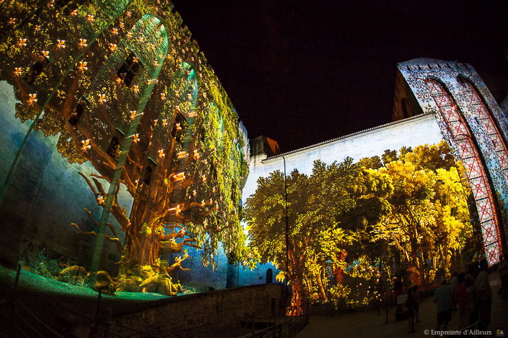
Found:
[[[430,285],[481,252],[471,189],[444,141],[289,173],[287,256],[285,208],[275,171],[258,179],[245,219],[252,261],[280,269],[297,307],[307,297],[367,304],[395,276]]]

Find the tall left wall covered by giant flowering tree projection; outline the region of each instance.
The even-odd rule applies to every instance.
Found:
[[[247,132],[173,5],[1,6],[2,261],[32,243],[92,271],[122,252],[211,269],[241,250]]]

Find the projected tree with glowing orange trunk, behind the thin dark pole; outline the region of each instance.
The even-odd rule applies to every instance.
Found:
[[[287,177],[287,269],[284,174],[275,171],[268,178],[259,178],[256,193],[247,199],[250,245],[261,262],[272,261],[285,271],[292,285],[293,306],[307,299],[308,290],[302,284],[309,274],[307,262],[318,256],[319,261],[338,261],[335,253],[354,239],[336,220],[353,206],[346,187],[353,184],[354,177],[351,159],[329,166],[315,162],[311,176],[293,171]]]

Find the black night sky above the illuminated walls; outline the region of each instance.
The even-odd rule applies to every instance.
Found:
[[[418,3],[173,1],[249,137],[283,152],[390,122],[397,62],[412,58],[468,62],[508,94],[508,1]]]

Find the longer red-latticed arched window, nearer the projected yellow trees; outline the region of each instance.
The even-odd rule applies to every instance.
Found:
[[[453,97],[437,80],[428,79],[426,85],[439,108],[439,113],[456,144],[456,149],[459,150],[459,156],[466,169],[467,179],[471,184],[478,209],[485,254],[489,265],[492,265],[498,261],[500,252],[499,222],[485,165],[476,147],[472,132]]]

